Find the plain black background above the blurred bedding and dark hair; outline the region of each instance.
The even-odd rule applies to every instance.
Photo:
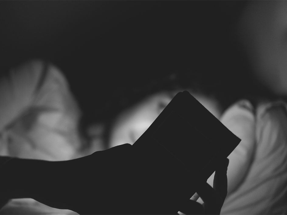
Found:
[[[64,72],[83,111],[100,118],[120,109],[124,98],[134,100],[134,89],[144,91],[171,73],[204,72],[208,79],[246,67],[234,35],[244,5],[1,1],[1,71],[48,60]]]

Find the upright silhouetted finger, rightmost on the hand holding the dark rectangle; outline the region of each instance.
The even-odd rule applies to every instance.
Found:
[[[213,179],[213,188],[220,195],[222,201],[225,200],[227,195],[227,166],[229,160],[226,159],[222,165],[215,171]]]

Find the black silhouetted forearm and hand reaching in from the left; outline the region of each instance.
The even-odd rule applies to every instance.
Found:
[[[176,214],[182,209],[197,213],[200,204],[182,206],[195,191],[194,177],[161,150],[124,144],[63,162],[13,159],[6,165],[6,175],[12,177],[4,193],[80,214]],[[201,213],[220,212],[224,171],[217,171],[215,192],[205,185],[197,190],[205,201]]]

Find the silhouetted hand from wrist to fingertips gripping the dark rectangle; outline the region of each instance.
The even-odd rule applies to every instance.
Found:
[[[182,202],[190,198],[190,175],[170,172],[171,163],[145,162],[148,155],[139,154],[129,144],[113,147],[83,158],[80,179],[73,198],[75,211],[101,214],[175,214]],[[160,159],[160,160],[161,160]],[[71,161],[75,162],[77,160]],[[85,167],[86,168],[83,168]],[[204,201],[188,206],[188,213],[219,214],[227,193],[228,159],[216,171],[214,189],[207,183],[197,193]],[[177,168],[175,166],[174,168]],[[78,173],[79,174],[79,173]],[[191,201],[189,201],[191,202]],[[195,206],[196,205],[196,206]],[[200,207],[199,207],[200,206]],[[199,210],[200,208],[200,210]]]

